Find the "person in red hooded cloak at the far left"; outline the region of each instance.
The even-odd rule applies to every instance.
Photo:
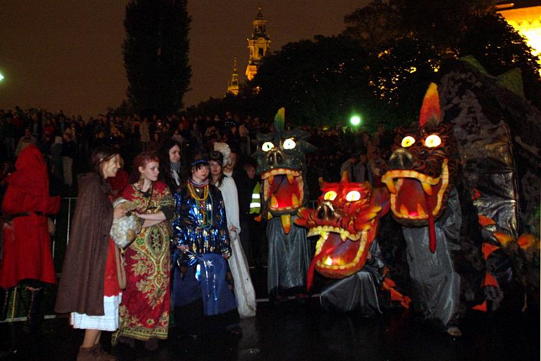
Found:
[[[60,210],[60,196],[49,196],[49,174],[37,146],[26,146],[15,163],[16,171],[6,178],[8,189],[2,211],[11,221],[3,227],[3,257],[0,286],[6,289],[3,309],[10,292],[22,283],[31,293],[26,326],[40,328],[40,300],[44,283],[55,284],[47,215]],[[5,315],[5,311],[2,312]]]

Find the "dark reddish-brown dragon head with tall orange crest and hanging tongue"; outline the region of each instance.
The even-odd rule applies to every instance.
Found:
[[[390,192],[393,217],[406,227],[429,226],[434,252],[434,221],[443,215],[458,173],[458,147],[452,124],[441,123],[436,84],[431,83],[424,96],[419,128],[397,130],[386,166],[381,182]]]

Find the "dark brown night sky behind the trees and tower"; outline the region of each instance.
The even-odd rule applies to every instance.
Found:
[[[0,108],[60,109],[84,117],[126,99],[125,0],[0,0]],[[186,106],[223,96],[236,56],[244,81],[246,38],[261,4],[271,50],[336,35],[368,0],[191,0],[191,90]]]

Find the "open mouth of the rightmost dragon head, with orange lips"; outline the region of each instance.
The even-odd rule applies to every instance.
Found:
[[[433,178],[410,169],[393,169],[381,177],[390,192],[390,209],[400,219],[427,221],[428,212],[437,217],[449,186],[447,159],[439,177]]]

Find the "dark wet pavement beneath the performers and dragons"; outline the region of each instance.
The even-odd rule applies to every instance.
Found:
[[[264,276],[254,275],[257,294],[264,294]],[[493,314],[471,312],[461,324],[463,337],[453,339],[417,323],[403,308],[366,319],[357,313],[321,310],[317,298],[274,305],[257,304],[257,316],[241,320],[243,336],[213,334],[194,341],[171,328],[156,351],[110,346],[119,360],[540,360],[539,305],[526,312],[509,305]],[[1,360],[75,360],[83,339],[66,318],[47,319],[40,337],[26,335],[23,322],[0,324]]]

